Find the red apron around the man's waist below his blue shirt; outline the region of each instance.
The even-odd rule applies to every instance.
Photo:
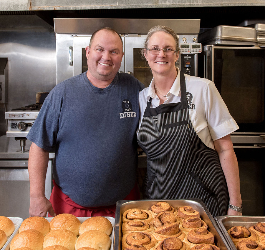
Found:
[[[110,216],[115,218],[116,204],[110,206],[99,206],[99,207],[84,207],[76,204],[72,201],[69,196],[64,194],[62,190],[57,186],[54,180],[52,194],[50,197],[50,202],[52,203],[53,210],[55,214],[73,214],[77,217],[91,217],[91,216]],[[135,183],[135,186],[131,190],[124,200],[139,200],[140,193]],[[48,217],[50,214],[48,214]]]

